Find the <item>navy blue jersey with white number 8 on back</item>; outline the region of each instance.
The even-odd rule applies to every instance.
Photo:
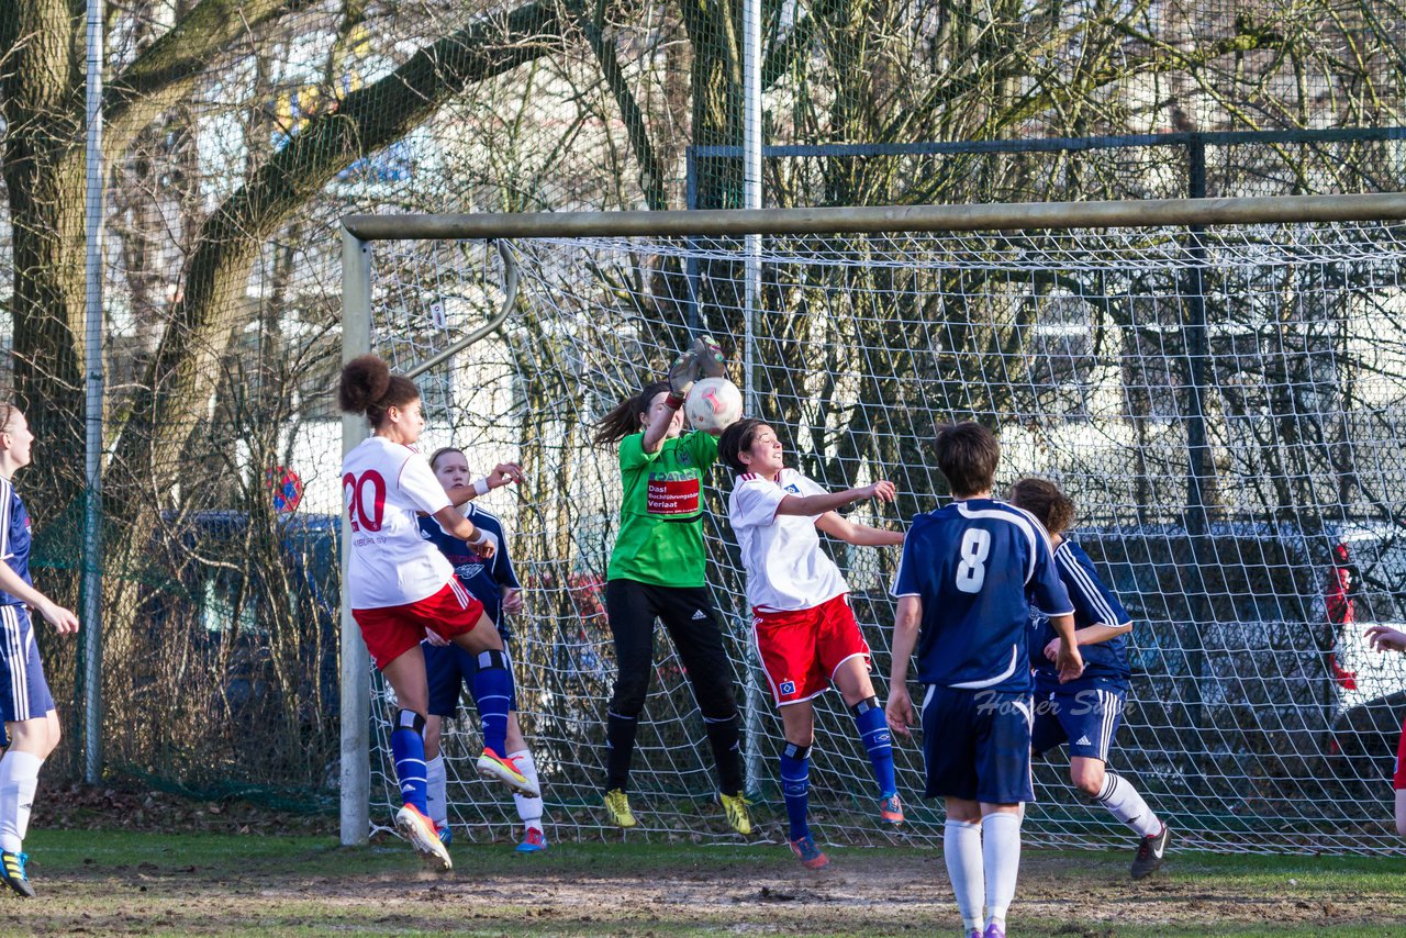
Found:
[[[1031,606],[1071,609],[1045,529],[990,498],[914,518],[893,595],[922,599],[920,681],[1002,692],[1031,689]]]

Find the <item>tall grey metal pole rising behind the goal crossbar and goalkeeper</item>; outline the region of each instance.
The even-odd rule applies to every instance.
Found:
[[[742,208],[762,207],[762,1],[742,3]],[[759,412],[756,394],[756,315],[762,302],[762,236],[751,232],[747,245],[747,285],[742,323],[742,385],[747,412]],[[751,627],[748,610],[741,615],[742,629]],[[751,647],[751,643],[748,643]],[[758,790],[766,778],[762,764],[761,714],[765,709],[759,661],[747,669],[747,789]]]

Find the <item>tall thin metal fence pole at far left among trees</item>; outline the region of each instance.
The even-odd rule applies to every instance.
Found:
[[[103,779],[103,7],[87,0],[84,236],[83,778]]]

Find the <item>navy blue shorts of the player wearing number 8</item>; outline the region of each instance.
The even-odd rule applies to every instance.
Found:
[[[922,700],[928,797],[1033,802],[1031,696],[928,685]]]

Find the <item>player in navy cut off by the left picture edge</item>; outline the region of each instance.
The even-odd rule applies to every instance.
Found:
[[[59,744],[59,714],[30,609],[59,634],[79,630],[77,616],[35,589],[30,578],[30,513],[11,478],[30,464],[32,446],[34,433],[20,408],[0,404],[0,719],[10,737],[0,758],[0,879],[27,899],[34,886],[25,872],[24,834],[39,766]]]

